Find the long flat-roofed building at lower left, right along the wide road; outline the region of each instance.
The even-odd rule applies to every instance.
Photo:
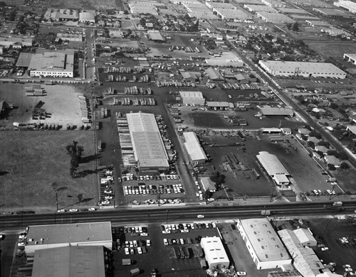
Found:
[[[28,227],[25,251],[33,256],[35,251],[61,246],[105,246],[112,249],[110,222],[33,225]]]

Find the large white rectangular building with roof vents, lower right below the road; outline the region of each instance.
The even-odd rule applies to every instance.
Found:
[[[292,259],[268,219],[238,219],[236,227],[258,270],[291,264]]]

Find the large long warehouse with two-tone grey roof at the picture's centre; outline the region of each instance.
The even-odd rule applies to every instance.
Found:
[[[168,155],[154,114],[126,114],[139,173],[155,174],[169,169]]]

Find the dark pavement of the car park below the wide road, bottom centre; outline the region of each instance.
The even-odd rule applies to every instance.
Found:
[[[164,218],[163,220],[167,220],[168,224],[179,224],[179,221],[177,220],[172,222],[173,219],[170,218],[169,215],[167,219]],[[162,223],[165,224],[166,222]],[[194,222],[190,222],[190,224],[194,224]],[[171,243],[173,243],[173,239],[176,241],[184,239],[183,247],[192,249],[191,253],[196,255],[198,253],[196,239],[199,239],[199,236],[219,236],[219,234],[217,230],[213,228],[190,229],[189,232],[183,233],[172,231],[170,234],[162,234],[161,227],[156,225],[147,228],[147,236],[139,237],[136,233],[132,234],[128,232],[126,234],[122,233],[117,235],[115,236],[115,239],[121,239],[123,242],[123,249],[116,251],[114,254],[115,276],[130,276],[130,269],[138,267],[144,271],[145,275],[150,273],[152,268],[157,268],[158,273],[162,274],[162,276],[205,277],[206,273],[201,269],[199,257],[193,257],[192,255],[190,259],[175,259],[172,254],[173,244],[167,246],[164,245],[164,239],[167,239],[167,241],[170,239]],[[150,240],[150,246],[147,246],[147,239]],[[188,244],[188,239],[192,241],[191,244]],[[138,251],[135,249],[135,254],[125,254],[125,241],[137,241],[137,246],[139,244],[145,245],[147,253],[138,254]],[[139,243],[139,241],[142,242]],[[182,244],[179,244],[179,246],[182,247]],[[122,266],[122,259],[132,259],[134,264],[132,264],[132,266]]]

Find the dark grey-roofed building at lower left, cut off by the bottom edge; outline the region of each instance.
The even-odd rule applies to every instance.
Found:
[[[33,277],[105,277],[112,268],[110,251],[104,246],[63,246],[36,250]]]

